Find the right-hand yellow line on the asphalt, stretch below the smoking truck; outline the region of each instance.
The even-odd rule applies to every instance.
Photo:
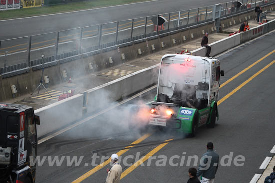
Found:
[[[166,146],[169,143],[169,141],[171,141],[171,140],[173,140],[173,139],[168,139],[168,140],[164,141],[165,143],[158,145],[152,151],[150,151],[148,154],[146,154],[141,159],[139,159],[137,162],[135,162],[133,165],[131,165],[129,168],[127,168],[124,172],[122,172],[120,180],[123,179],[125,176],[127,176],[129,173],[131,173],[134,169],[136,169],[143,162],[148,160],[151,156],[153,156],[155,153],[157,153],[164,146]]]

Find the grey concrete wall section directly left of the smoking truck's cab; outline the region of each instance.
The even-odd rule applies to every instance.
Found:
[[[139,70],[84,92],[87,113],[108,107],[113,102],[157,83],[159,65]]]

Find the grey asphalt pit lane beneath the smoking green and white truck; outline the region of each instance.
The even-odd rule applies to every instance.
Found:
[[[233,152],[233,158],[237,155],[245,157],[243,166],[235,166],[233,163],[227,167],[219,166],[215,182],[249,182],[255,173],[259,173],[259,166],[275,144],[272,130],[275,128],[273,122],[275,53],[272,52],[274,35],[272,32],[218,57],[221,60],[221,68],[225,71],[225,76],[221,77],[221,84],[245,68],[248,69],[226,85],[221,85],[219,98],[222,102],[218,106],[220,118],[215,128],[202,127],[196,137],[183,139],[172,131],[149,131],[151,135],[146,135],[145,132],[144,134],[130,132],[125,118],[129,107],[138,101],[143,103],[151,101],[156,93],[156,89],[153,89],[39,144],[40,156],[59,156],[59,158],[77,156],[78,159],[83,156],[83,160],[79,166],[67,166],[66,160],[60,166],[55,164],[50,167],[45,163],[37,167],[36,183],[103,183],[107,176],[106,168],[110,166],[93,169],[91,156],[94,153],[98,153],[101,157],[119,152],[123,157],[134,155],[136,158],[136,153],[140,152],[140,157],[149,153],[149,155],[165,155],[169,159],[174,155],[182,156],[182,153],[186,152],[186,160],[181,167],[171,166],[168,163],[166,166],[156,166],[156,160],[159,159],[152,160],[151,166],[140,165],[128,169],[122,165],[121,180],[121,183],[184,183],[188,180],[189,166],[185,166],[187,156],[201,157],[209,141],[214,143],[214,149],[220,158],[229,155],[230,152]],[[249,67],[256,61],[257,64]],[[140,137],[143,139],[140,140]],[[169,141],[164,142],[165,140]],[[130,145],[131,143],[134,144]],[[129,159],[128,163],[133,161]],[[178,162],[175,159],[174,163],[176,161]],[[96,163],[99,162],[97,159]],[[144,161],[145,165],[147,163],[148,160]],[[90,170],[96,171],[90,172]],[[87,172],[89,175],[84,175]]]

